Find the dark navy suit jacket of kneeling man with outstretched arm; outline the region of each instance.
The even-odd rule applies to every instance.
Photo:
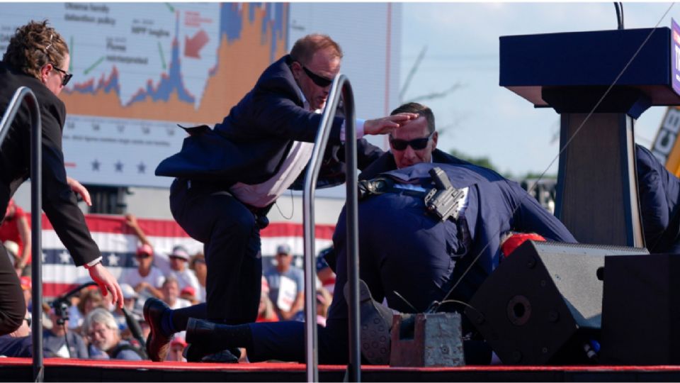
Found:
[[[156,175],[226,186],[235,182],[259,184],[278,172],[293,141],[313,143],[322,116],[304,109],[290,61],[286,55],[269,66],[222,123],[212,129],[207,126],[190,129],[181,151],[163,160]],[[333,146],[341,145],[343,121],[342,117],[334,118],[329,157],[338,152]],[[378,148],[365,140],[361,145],[359,155],[365,153],[375,159],[380,154]],[[340,162],[331,161],[331,165],[341,172]],[[344,176],[336,182],[339,179],[344,180]]]

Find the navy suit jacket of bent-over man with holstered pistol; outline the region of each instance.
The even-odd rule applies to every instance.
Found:
[[[429,170],[441,167],[458,189],[469,187],[465,220],[470,230],[471,244],[467,254],[457,262],[452,280],[472,265],[458,287],[454,299],[467,301],[497,267],[500,259],[500,236],[506,231],[538,233],[548,240],[576,243],[567,228],[538,204],[517,182],[505,179],[497,172],[472,164],[417,164],[383,175],[395,179],[424,179],[430,182]]]

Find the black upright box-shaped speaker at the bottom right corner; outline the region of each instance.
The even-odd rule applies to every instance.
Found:
[[[602,362],[680,364],[680,255],[607,257]]]

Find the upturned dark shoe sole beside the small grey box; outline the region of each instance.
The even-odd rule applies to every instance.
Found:
[[[349,284],[344,296],[349,304]],[[371,365],[390,364],[390,328],[394,313],[370,295],[366,282],[359,280],[359,316],[361,317],[361,355]]]

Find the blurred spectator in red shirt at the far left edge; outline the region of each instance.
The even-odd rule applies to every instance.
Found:
[[[18,245],[14,270],[16,274],[30,275],[30,226],[28,226],[28,213],[9,200],[5,216],[0,224],[0,242],[11,240]]]

